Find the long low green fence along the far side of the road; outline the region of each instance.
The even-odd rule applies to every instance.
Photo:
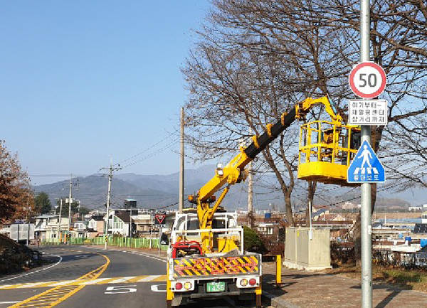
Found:
[[[98,236],[96,238],[70,238],[70,245],[104,245],[105,237]],[[41,242],[42,245],[58,245],[58,239],[51,238]],[[128,247],[128,248],[153,248],[159,249],[158,238],[120,238],[112,237],[108,238],[108,245]],[[167,250],[168,245],[160,245],[161,250]]]

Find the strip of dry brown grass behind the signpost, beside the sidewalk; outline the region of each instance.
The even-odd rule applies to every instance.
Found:
[[[345,275],[360,280],[361,268],[354,265],[343,265],[332,270],[330,274]],[[387,283],[408,290],[427,293],[427,272],[421,270],[401,270],[379,265],[372,267],[372,280],[377,283]]]

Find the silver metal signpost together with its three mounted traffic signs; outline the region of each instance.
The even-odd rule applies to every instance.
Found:
[[[362,238],[362,307],[372,307],[371,183],[385,181],[384,168],[371,149],[371,125],[386,124],[386,102],[369,100],[378,97],[386,87],[386,74],[381,66],[370,62],[370,1],[360,1],[360,62],[349,75],[355,95],[364,100],[349,102],[349,124],[361,125],[361,144],[347,171],[347,181],[361,184]],[[367,101],[367,99],[369,101]],[[381,107],[380,107],[381,106]],[[384,112],[384,118],[379,117]],[[378,115],[377,115],[378,114]],[[375,117],[375,118],[374,118]],[[359,158],[358,158],[359,157]],[[376,163],[378,161],[379,164]],[[380,177],[384,175],[383,178]],[[378,174],[376,174],[378,172]],[[369,179],[368,179],[369,177]],[[363,180],[362,180],[363,179]]]

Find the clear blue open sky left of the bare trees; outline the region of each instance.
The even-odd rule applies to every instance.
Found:
[[[110,156],[120,173],[179,171],[180,68],[209,0],[0,4],[0,139],[33,184]]]

